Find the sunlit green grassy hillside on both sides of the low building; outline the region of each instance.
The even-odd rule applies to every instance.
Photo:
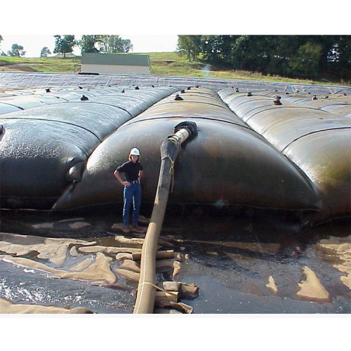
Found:
[[[232,79],[250,81],[275,81],[302,84],[334,84],[350,86],[350,83],[331,83],[311,79],[289,79],[279,76],[263,75],[257,72],[218,70],[201,62],[189,62],[186,55],[180,53],[147,53],[150,56],[151,74],[154,76],[202,77],[211,79]],[[66,58],[53,56],[48,58],[13,58],[0,56],[0,71],[20,72],[80,72],[80,56]]]

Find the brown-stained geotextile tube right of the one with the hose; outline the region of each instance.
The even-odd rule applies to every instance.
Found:
[[[322,201],[321,218],[350,214],[351,119],[323,110],[326,103],[317,104],[323,98],[328,105],[332,101],[350,104],[350,96],[322,98],[296,93],[280,96],[282,105],[273,105],[274,93],[256,91],[248,96],[225,89],[219,95],[239,118],[307,176]]]

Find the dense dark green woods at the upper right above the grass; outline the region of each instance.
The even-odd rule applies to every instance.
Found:
[[[179,35],[178,51],[216,68],[351,80],[350,35]]]

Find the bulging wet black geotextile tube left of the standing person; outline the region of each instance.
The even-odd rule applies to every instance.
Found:
[[[62,194],[68,192],[70,197],[72,185],[80,183],[84,166],[96,148],[117,128],[176,88],[129,92],[126,88],[126,93],[100,88],[95,89],[96,96],[92,91],[51,89],[45,98],[58,103],[40,102],[40,107],[0,115],[4,130],[0,135],[1,208],[50,210]],[[82,92],[89,100],[80,100]],[[72,101],[60,102],[63,98],[54,95]],[[39,101],[34,94],[13,99],[19,107]],[[3,100],[0,96],[0,105]]]

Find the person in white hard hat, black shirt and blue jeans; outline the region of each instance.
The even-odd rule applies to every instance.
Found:
[[[129,232],[129,211],[133,201],[133,218],[132,227],[135,230],[141,230],[138,226],[139,209],[141,204],[141,187],[140,178],[143,174],[143,166],[139,162],[140,151],[134,147],[129,153],[128,161],[117,167],[114,176],[121,185],[124,185],[124,206],[123,206],[123,224],[124,232]],[[124,173],[126,180],[121,178]]]

